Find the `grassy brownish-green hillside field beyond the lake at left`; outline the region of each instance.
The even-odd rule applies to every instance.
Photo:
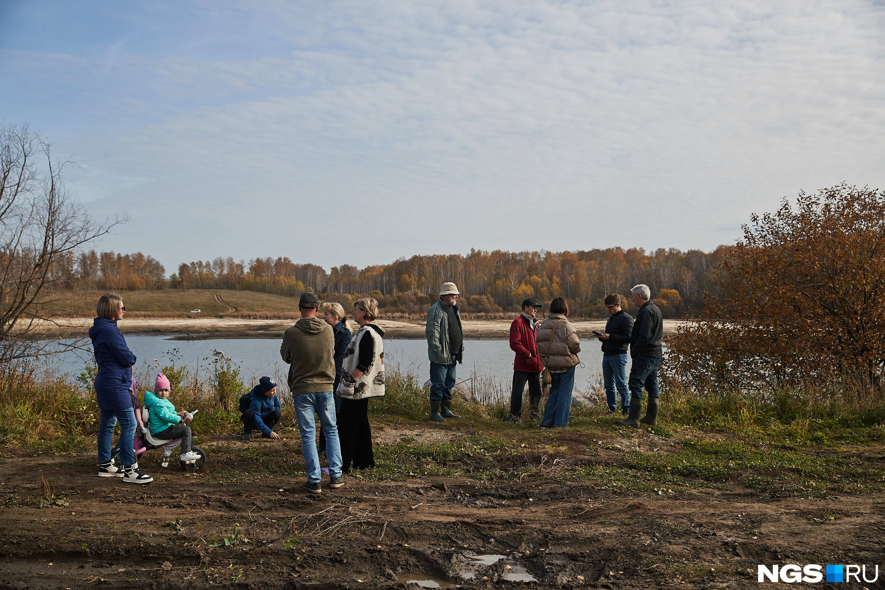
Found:
[[[56,307],[64,315],[95,316],[98,298],[106,291],[62,291],[58,292]],[[227,289],[162,289],[158,291],[120,291],[126,305],[127,316],[161,317],[165,314],[185,314],[188,317],[216,316],[231,314],[231,310],[219,303],[214,295],[233,307],[236,312],[260,314],[289,314],[298,311],[298,300],[283,295],[268,295],[254,291],[232,291]],[[200,313],[190,313],[200,310]]]

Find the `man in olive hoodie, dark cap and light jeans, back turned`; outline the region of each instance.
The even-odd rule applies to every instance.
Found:
[[[317,432],[314,413],[326,437],[326,458],[329,464],[329,487],[342,487],[341,444],[335,425],[335,335],[332,326],[317,318],[319,297],[301,295],[298,310],[301,319],[283,333],[280,356],[289,364],[289,389],[295,403],[298,430],[301,431],[301,453],[307,466],[304,489],[312,494],[321,491],[322,471],[317,454]]]

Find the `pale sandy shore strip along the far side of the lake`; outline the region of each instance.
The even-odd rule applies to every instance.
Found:
[[[501,340],[510,335],[509,319],[465,320],[464,335],[469,339]],[[424,322],[419,320],[379,319],[387,338],[423,339]],[[673,333],[683,322],[664,320],[664,333]],[[294,322],[290,319],[240,319],[240,318],[132,318],[119,321],[124,334],[168,335],[175,339],[214,338],[281,338],[283,331]],[[350,322],[352,326],[356,326]],[[603,330],[604,320],[574,321],[581,338],[592,337],[593,330]],[[58,325],[49,321],[39,327],[37,333],[43,338],[76,338],[87,335],[92,318],[64,318]]]

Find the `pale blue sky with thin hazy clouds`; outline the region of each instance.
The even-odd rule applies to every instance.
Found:
[[[0,0],[0,119],[167,272],[709,250],[885,188],[883,32],[883,0]]]

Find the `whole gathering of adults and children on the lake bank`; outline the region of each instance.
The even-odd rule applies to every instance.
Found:
[[[631,289],[638,308],[635,320],[621,309],[620,295],[608,295],[605,309],[610,317],[605,331],[596,332],[602,342],[603,376],[609,410],[621,411],[627,418],[617,424],[637,426],[656,424],[658,416],[658,366],[662,356],[661,312],[650,299],[647,285]],[[458,364],[464,361],[464,326],[458,310],[458,287],[444,283],[440,298],[427,312],[427,356],[430,360],[430,418],[443,421],[459,418],[452,409],[452,388]],[[322,303],[319,296],[304,293],[298,301],[301,314],[295,326],[283,334],[280,355],[289,364],[289,390],[296,410],[301,448],[307,470],[304,488],[319,494],[323,468],[319,455],[325,453],[329,487],[342,487],[343,476],[353,469],[374,467],[372,430],[368,402],[384,395],[384,330],[375,324],[378,302],[371,297],[353,303],[353,319],[358,325],[351,333],[340,303]],[[515,353],[511,394],[511,419],[522,415],[522,397],[528,386],[529,412],[539,418],[543,387],[550,386],[541,418],[542,428],[568,425],[572,408],[575,366],[581,361],[581,341],[568,321],[568,302],[557,297],[550,302],[547,318],[539,320],[543,305],[534,299],[522,302],[522,312],[510,329],[510,347]],[[150,475],[140,471],[132,445],[138,409],[138,395],[132,367],[135,355],[127,348],[117,321],[126,312],[118,295],[103,295],[98,302],[93,327],[89,330],[96,356],[96,397],[101,410],[98,430],[99,475],[123,477],[124,481],[149,483]],[[627,354],[633,364],[627,379]],[[649,393],[648,410],[639,419],[643,389]],[[153,392],[145,394],[151,405],[150,429],[155,437],[181,438],[182,456],[190,453],[191,434],[187,412],[175,412],[169,380],[160,373]],[[148,395],[150,394],[150,395]],[[279,435],[273,427],[280,422],[281,404],[273,379],[262,377],[240,402],[243,439],[258,430],[267,438]],[[156,417],[156,419],[155,419]],[[319,445],[316,418],[319,417]],[[120,462],[112,459],[111,439],[116,423],[121,425]],[[187,448],[186,448],[187,447]],[[183,459],[182,459],[183,460]]]

